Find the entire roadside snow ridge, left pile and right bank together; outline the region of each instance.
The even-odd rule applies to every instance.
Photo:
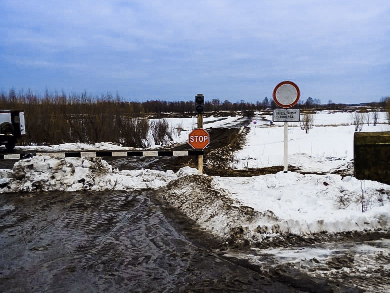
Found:
[[[196,174],[196,175],[195,175]],[[190,176],[188,176],[190,175]],[[0,193],[159,189],[170,205],[234,243],[286,235],[390,228],[390,186],[339,175],[279,172],[226,178],[178,172],[119,171],[99,157],[38,155],[0,170]],[[361,212],[361,194],[367,200]]]

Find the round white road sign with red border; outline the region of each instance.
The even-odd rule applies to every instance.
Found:
[[[298,103],[299,88],[291,81],[278,83],[273,90],[273,101],[282,108],[290,108]]]

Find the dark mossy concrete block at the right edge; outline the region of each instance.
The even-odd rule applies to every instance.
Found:
[[[357,179],[390,184],[390,131],[355,132],[353,168]]]

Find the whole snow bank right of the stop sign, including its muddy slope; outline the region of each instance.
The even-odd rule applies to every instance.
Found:
[[[390,228],[386,184],[295,172],[209,182],[195,177],[170,182],[163,196],[214,235],[235,242]]]

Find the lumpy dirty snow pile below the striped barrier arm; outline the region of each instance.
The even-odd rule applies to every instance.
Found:
[[[172,179],[196,173],[196,169],[189,167],[176,173],[171,170],[119,171],[99,157],[61,159],[37,155],[17,161],[12,170],[0,169],[0,193],[158,188]]]

